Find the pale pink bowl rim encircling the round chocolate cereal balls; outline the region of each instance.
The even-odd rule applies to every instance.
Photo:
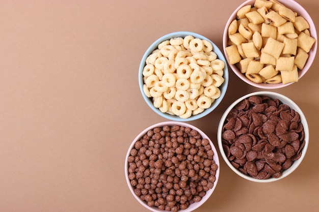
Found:
[[[166,122],[160,122],[160,123],[156,123],[156,124],[153,124],[147,128],[145,128],[143,131],[141,131],[136,137],[135,139],[131,142],[128,150],[127,150],[127,153],[126,153],[126,157],[125,157],[125,165],[124,165],[124,174],[125,174],[125,179],[126,179],[126,184],[131,192],[131,194],[135,197],[135,199],[138,200],[138,202],[143,205],[144,207],[146,207],[147,209],[151,210],[151,211],[154,211],[154,212],[159,212],[159,211],[165,211],[165,210],[159,210],[157,209],[156,207],[150,207],[148,206],[143,200],[141,200],[135,193],[134,193],[134,190],[132,188],[132,186],[130,185],[129,183],[129,179],[128,179],[128,162],[127,162],[127,159],[128,159],[128,156],[130,155],[130,150],[132,149],[132,147],[134,146],[135,142],[137,140],[139,140],[144,134],[147,133],[147,131],[151,130],[151,129],[154,129],[155,127],[163,127],[165,125],[168,125],[168,126],[174,126],[174,125],[178,125],[178,126],[183,126],[183,127],[190,127],[191,129],[194,129],[194,130],[197,130],[197,132],[199,132],[201,134],[201,136],[203,138],[207,138],[208,141],[209,141],[209,144],[211,146],[211,149],[213,150],[214,152],[214,156],[213,156],[213,159],[214,161],[216,162],[216,164],[218,165],[218,168],[216,170],[216,174],[215,174],[215,177],[216,177],[216,180],[214,182],[214,186],[209,189],[205,196],[202,197],[201,201],[199,202],[195,202],[191,205],[193,205],[193,207],[188,207],[187,209],[184,209],[184,210],[178,210],[178,211],[183,211],[183,212],[190,212],[190,211],[193,211],[195,209],[197,209],[198,207],[200,207],[202,204],[204,204],[207,199],[209,199],[209,197],[211,196],[212,193],[214,193],[215,189],[216,189],[216,186],[218,184],[218,180],[219,180],[219,175],[220,175],[220,159],[219,159],[219,155],[218,155],[218,150],[217,148],[215,147],[214,143],[212,143],[211,139],[202,131],[200,130],[199,128],[195,127],[194,125],[191,125],[191,124],[188,124],[188,123],[184,123],[184,122],[176,122],[176,121],[166,121]]]

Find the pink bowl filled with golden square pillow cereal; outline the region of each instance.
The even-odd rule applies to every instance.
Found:
[[[223,34],[223,50],[224,50],[225,57],[226,57],[226,60],[227,60],[229,67],[244,82],[246,82],[252,86],[263,88],[263,89],[281,88],[281,87],[288,86],[294,82],[297,82],[302,76],[304,76],[306,74],[306,72],[311,67],[313,60],[315,58],[316,50],[317,50],[317,34],[316,34],[316,28],[315,28],[315,25],[313,23],[313,20],[311,19],[308,12],[300,4],[298,4],[294,0],[285,0],[285,1],[278,0],[277,2],[281,3],[286,8],[289,8],[290,11],[297,12],[298,16],[301,16],[304,18],[304,19],[299,18],[299,20],[302,19],[302,20],[306,20],[308,22],[309,28],[305,29],[305,31],[302,31],[302,32],[305,32],[307,34],[309,33],[311,38],[309,38],[307,36],[306,37],[309,38],[311,40],[311,42],[314,42],[312,44],[309,52],[307,52],[308,49],[306,49],[306,51],[299,50],[300,43],[301,44],[307,43],[307,41],[302,41],[305,34],[302,33],[302,36],[298,36],[301,34],[300,34],[300,32],[297,31],[296,27],[295,27],[296,33],[283,34],[283,33],[286,33],[288,31],[286,31],[286,32],[282,31],[282,28],[283,28],[282,26],[290,24],[290,27],[291,27],[290,30],[294,29],[294,26],[293,26],[294,24],[291,24],[290,21],[287,21],[285,24],[282,24],[281,26],[279,26],[279,27],[281,27],[280,31],[279,31],[279,27],[274,28],[274,27],[272,27],[273,25],[269,24],[269,22],[268,22],[268,24],[260,23],[260,24],[264,24],[263,28],[261,28],[260,24],[256,24],[256,25],[259,25],[259,29],[256,29],[256,28],[253,29],[254,26],[256,26],[255,24],[252,24],[253,21],[256,21],[255,23],[259,23],[259,22],[257,22],[257,20],[254,20],[253,17],[249,17],[250,18],[249,22],[251,20],[251,22],[249,23],[251,27],[245,27],[244,21],[242,21],[243,25],[242,25],[241,29],[239,29],[240,28],[239,26],[240,26],[240,23],[242,23],[242,22],[237,22],[237,25],[232,23],[235,19],[237,19],[238,11],[239,11],[239,14],[241,14],[240,11],[243,11],[244,10],[243,8],[249,7],[249,5],[251,5],[253,7],[255,2],[271,3],[273,1],[275,1],[275,0],[271,0],[271,1],[248,0],[248,1],[245,1],[229,17],[229,19],[226,23],[225,29],[224,29],[224,34]],[[271,8],[271,9],[274,9],[274,8]],[[269,18],[271,16],[271,14],[269,14],[269,12],[271,10],[267,10],[264,8],[263,8],[264,11],[260,12],[260,10],[261,9],[259,9],[259,14],[264,13],[263,15],[265,15],[268,13],[267,18]],[[278,9],[274,9],[274,10],[278,11]],[[256,11],[254,11],[254,12],[256,12]],[[273,13],[276,13],[276,12],[273,11]],[[280,12],[280,13],[282,14],[283,12]],[[253,13],[251,13],[251,14],[253,14]],[[276,13],[276,15],[278,15],[278,13]],[[242,18],[242,17],[240,16],[240,18]],[[263,19],[263,20],[266,20],[266,19]],[[296,20],[297,20],[297,18],[296,18]],[[236,27],[237,27],[237,31],[234,30],[234,29],[236,29]],[[297,27],[300,30],[303,29],[299,26],[297,26]],[[246,29],[247,29],[247,31],[250,31],[251,33],[245,35]],[[270,36],[270,32],[272,32],[273,29],[275,29],[277,35],[272,34],[273,36]],[[262,33],[261,30],[263,32],[266,32],[266,33]],[[255,35],[254,34],[255,31],[259,31],[260,34],[262,34],[262,37],[259,36],[260,34]],[[246,37],[246,38],[248,38],[248,40],[246,38],[242,37],[241,36],[242,34],[239,32],[241,32],[245,37],[248,36],[248,37]],[[280,35],[278,32],[280,32]],[[290,31],[289,33],[292,33],[292,32],[293,31]],[[249,40],[250,36],[252,34],[254,36],[253,36],[253,38],[251,38],[251,40]],[[230,36],[232,36],[232,37],[230,37]],[[267,42],[266,37],[275,38],[274,36],[276,37],[276,39],[274,39],[274,40],[269,39],[269,42]],[[241,40],[242,38],[244,38],[244,40]],[[290,38],[291,40],[288,40],[287,38]],[[262,41],[259,41],[260,39],[262,39]],[[285,39],[285,41],[284,41],[284,39]],[[297,41],[294,39],[297,39]],[[231,42],[231,40],[233,42]],[[250,41],[253,41],[253,42],[250,42]],[[291,41],[291,43],[289,43],[290,41]],[[245,44],[243,45],[242,42]],[[298,44],[297,44],[297,42],[298,42]],[[252,45],[252,43],[254,43],[254,45]],[[257,43],[259,43],[259,44],[257,44]],[[286,45],[288,43],[289,43],[289,45]],[[274,45],[272,45],[272,44],[274,44]],[[266,45],[267,45],[267,48],[264,48],[264,47],[266,47]],[[296,45],[298,45],[297,50],[296,50]],[[287,48],[285,48],[284,46],[286,46]],[[288,50],[289,49],[288,46],[289,47],[294,46],[294,48],[291,48],[290,49],[291,51],[290,51],[290,50]],[[235,48],[235,47],[237,47],[237,48]],[[246,51],[244,51],[243,47],[245,47]],[[307,48],[309,48],[309,47],[307,47]],[[281,51],[282,53],[280,54],[281,49],[283,49],[283,50]],[[228,51],[229,55],[227,55],[227,51]],[[247,56],[247,57],[250,57],[253,60],[253,62],[251,64],[251,68],[249,68],[249,69],[248,69],[248,64],[249,64],[251,59],[246,58],[245,52],[249,52],[249,56]],[[269,54],[272,54],[272,55],[269,56]],[[297,57],[297,55],[298,55],[298,57]],[[280,57],[280,58],[278,59],[278,57]],[[289,59],[281,58],[281,57],[287,57]],[[302,58],[302,59],[300,60],[300,58]],[[287,60],[285,60],[285,59],[287,59]],[[262,65],[259,66],[260,64],[257,65],[255,60],[261,62],[260,64],[263,64],[264,66],[262,66]],[[287,62],[288,60],[290,60],[290,62]],[[283,62],[283,61],[285,61],[285,62]],[[283,62],[283,63],[281,63],[281,62]],[[274,67],[274,69],[271,66],[269,66],[267,69],[262,69],[262,68],[265,68],[266,66],[268,66],[268,64],[271,64]],[[284,66],[280,66],[280,64],[283,64]],[[253,65],[256,65],[256,66],[253,66]],[[296,66],[294,66],[294,65],[296,65]],[[262,71],[260,71],[261,69],[262,69]],[[287,70],[287,71],[280,72],[280,70]],[[291,71],[291,70],[293,70],[294,72],[289,73],[288,71]],[[246,74],[244,74],[244,73],[249,73],[249,74],[247,74],[248,76],[246,77]],[[252,75],[250,75],[251,73],[252,73]],[[282,79],[281,79],[281,77],[278,78],[278,76],[276,76],[276,74],[278,74],[278,73],[281,73],[280,76],[282,76]],[[248,79],[248,77],[250,79]]]

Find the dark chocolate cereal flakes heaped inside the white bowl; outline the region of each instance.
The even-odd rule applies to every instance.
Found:
[[[257,179],[278,178],[305,145],[299,113],[278,99],[251,96],[228,114],[222,130],[231,164]]]

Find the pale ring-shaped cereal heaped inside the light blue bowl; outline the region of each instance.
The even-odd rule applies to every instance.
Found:
[[[186,36],[160,43],[143,69],[143,91],[164,113],[188,118],[221,96],[225,63],[209,41]]]

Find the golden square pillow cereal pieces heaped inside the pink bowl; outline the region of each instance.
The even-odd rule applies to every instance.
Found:
[[[316,41],[309,28],[304,17],[278,1],[256,0],[238,10],[228,27],[229,63],[255,83],[297,82]]]

